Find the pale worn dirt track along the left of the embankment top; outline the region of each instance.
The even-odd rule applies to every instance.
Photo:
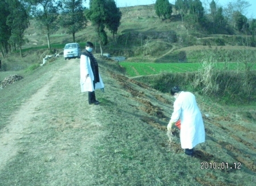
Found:
[[[44,114],[42,111],[36,111],[40,110],[40,105],[42,105],[49,96],[49,89],[62,77],[63,71],[73,69],[73,71],[69,71],[69,73],[75,73],[74,71],[77,71],[76,68],[73,68],[75,63],[75,60],[70,60],[67,65],[55,72],[55,75],[51,79],[46,80],[46,84],[40,88],[38,92],[31,96],[18,111],[11,115],[9,125],[7,125],[0,134],[0,170],[5,167],[10,159],[21,151],[19,146],[16,145],[17,140],[23,137],[24,129],[31,127],[32,118]]]

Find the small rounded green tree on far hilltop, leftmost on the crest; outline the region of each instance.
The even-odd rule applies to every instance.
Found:
[[[168,0],[156,0],[155,13],[161,19],[169,19],[172,14],[172,5]]]

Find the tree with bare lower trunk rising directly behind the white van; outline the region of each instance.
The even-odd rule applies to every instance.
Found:
[[[87,20],[84,15],[85,7],[82,0],[64,0],[63,12],[60,16],[60,26],[67,28],[68,34],[72,34],[75,43],[76,32],[86,28]]]

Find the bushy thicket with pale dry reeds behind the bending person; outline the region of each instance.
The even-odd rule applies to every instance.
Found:
[[[197,72],[161,73],[159,76],[141,77],[161,92],[170,92],[170,88],[180,85],[184,90],[199,92],[216,98],[225,104],[245,104],[256,101],[256,73],[251,68],[231,71],[225,63],[221,69],[213,56],[204,59]]]

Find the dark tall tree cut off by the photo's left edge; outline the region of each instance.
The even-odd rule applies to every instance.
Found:
[[[6,1],[0,1],[0,51],[4,58],[7,55],[8,41],[11,36],[11,28],[6,24],[9,14],[9,5]]]

